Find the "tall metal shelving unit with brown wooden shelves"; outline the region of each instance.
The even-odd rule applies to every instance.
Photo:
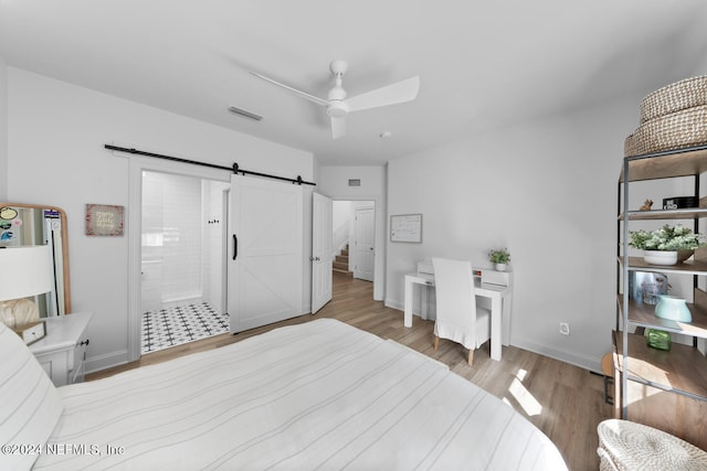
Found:
[[[692,220],[697,232],[707,207],[680,210],[631,211],[629,193],[633,182],[693,176],[696,201],[699,201],[699,176],[707,172],[707,146],[668,152],[624,158],[618,192],[618,264],[616,264],[616,330],[613,341],[615,364],[621,372],[621,416],[629,416],[629,382],[636,382],[662,390],[707,400],[707,358],[695,347],[697,338],[707,339],[707,292],[698,288],[698,279],[707,277],[707,250],[698,249],[694,261],[676,266],[652,266],[640,257],[629,256],[629,229],[634,221]],[[656,226],[657,228],[657,226]],[[682,323],[659,319],[651,304],[630,300],[629,280],[632,271],[655,271],[676,276],[692,276],[694,302],[688,304],[693,322]],[[622,293],[623,289],[623,293]],[[673,343],[671,351],[650,349],[641,334],[629,333],[632,328],[655,328],[690,335],[694,345]],[[616,378],[618,381],[619,378]]]

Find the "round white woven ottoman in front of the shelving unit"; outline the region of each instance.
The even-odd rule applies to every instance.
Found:
[[[707,470],[707,452],[662,430],[609,419],[597,427],[600,470]]]

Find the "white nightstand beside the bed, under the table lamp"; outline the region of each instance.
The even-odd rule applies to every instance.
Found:
[[[32,345],[30,351],[56,386],[84,381],[86,357],[86,325],[91,312],[77,312],[46,320],[46,335]]]

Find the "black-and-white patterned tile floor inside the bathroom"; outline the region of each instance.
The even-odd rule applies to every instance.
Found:
[[[143,354],[229,332],[229,314],[208,302],[143,314]]]

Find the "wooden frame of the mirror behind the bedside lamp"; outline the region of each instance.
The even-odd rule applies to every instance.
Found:
[[[51,205],[39,205],[39,204],[0,203],[0,210],[4,207],[10,207],[15,210],[38,210],[42,212],[42,213],[39,213],[39,215],[41,215],[43,218],[46,217],[48,211],[51,212],[51,214],[59,215],[59,221],[61,222],[61,228],[57,232],[59,232],[59,235],[61,236],[61,248],[59,247],[59,244],[56,244],[56,240],[54,239],[53,234],[52,235],[46,234],[46,231],[43,231],[44,232],[43,236],[45,239],[42,240],[42,243],[43,244],[51,243],[52,245],[54,245],[54,248],[53,248],[54,254],[56,254],[56,251],[61,249],[61,260],[59,260],[56,256],[54,257],[54,270],[56,275],[55,276],[56,291],[62,292],[63,302],[60,302],[57,298],[57,301],[56,301],[57,312],[55,312],[54,314],[61,315],[61,314],[71,313],[71,282],[68,277],[68,238],[67,238],[67,228],[66,228],[66,213],[61,207],[51,206]],[[38,217],[38,216],[35,215],[34,217]],[[12,221],[14,218],[17,218],[17,216],[10,220],[6,220],[2,217],[2,213],[0,213],[0,221],[8,221],[10,224],[12,224]],[[20,220],[20,225],[21,224],[22,224],[22,220]],[[4,234],[9,232],[12,226],[10,227],[6,226],[0,228],[0,245],[12,244],[12,239],[8,239],[8,240],[1,239],[4,236]],[[52,229],[51,232],[53,233],[55,229]],[[52,242],[49,240],[49,237],[52,238]],[[61,280],[59,279],[60,278],[59,275],[61,275]],[[61,287],[59,285],[61,285]]]

